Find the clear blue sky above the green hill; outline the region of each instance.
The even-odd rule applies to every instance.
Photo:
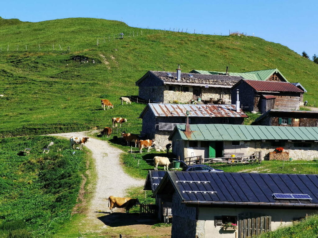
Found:
[[[183,28],[219,35],[240,31],[281,43],[297,53],[305,50],[310,57],[318,55],[317,0],[3,0],[0,16],[30,22],[97,17],[135,27]]]

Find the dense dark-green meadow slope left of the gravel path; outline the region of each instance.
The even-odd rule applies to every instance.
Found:
[[[67,140],[51,136],[2,138],[0,145],[0,237],[46,235],[69,220],[88,176],[85,152],[73,154]],[[30,155],[17,155],[24,148]]]

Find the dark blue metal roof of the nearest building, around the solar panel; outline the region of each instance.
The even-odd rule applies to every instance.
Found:
[[[318,207],[318,175],[169,171],[154,195],[171,185],[188,204]],[[312,200],[274,199],[274,193],[308,194]]]

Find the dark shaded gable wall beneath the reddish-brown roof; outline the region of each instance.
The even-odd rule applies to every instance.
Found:
[[[243,106],[243,111],[254,110],[254,92],[255,90],[247,83],[240,83],[236,87],[232,88],[231,100],[232,104],[236,103],[236,90],[239,89],[239,101]]]

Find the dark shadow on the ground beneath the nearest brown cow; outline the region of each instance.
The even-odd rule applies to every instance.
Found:
[[[126,214],[122,212],[113,212],[109,215],[100,216],[98,219],[110,227],[131,226],[138,224],[154,225],[158,223],[155,219],[152,220],[146,217],[139,218],[139,213]]]

